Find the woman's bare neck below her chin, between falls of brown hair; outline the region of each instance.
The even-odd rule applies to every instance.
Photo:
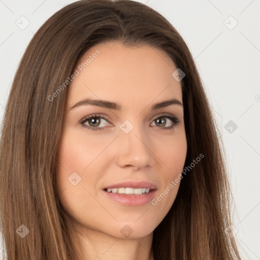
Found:
[[[153,233],[142,238],[122,239],[84,229],[70,234],[76,255],[82,260],[154,260]]]

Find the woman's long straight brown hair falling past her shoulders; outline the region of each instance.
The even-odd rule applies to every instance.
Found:
[[[232,223],[225,156],[191,53],[167,19],[127,0],[83,0],[62,8],[36,32],[21,59],[6,106],[0,151],[1,232],[8,259],[78,258],[55,185],[69,85],[57,89],[89,48],[111,41],[163,50],[185,73],[185,167],[204,155],[182,178],[172,208],[153,232],[154,259],[241,259],[232,233],[225,234]]]

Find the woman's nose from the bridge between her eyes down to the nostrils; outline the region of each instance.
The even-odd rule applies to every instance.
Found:
[[[147,165],[154,165],[154,155],[151,152],[151,144],[149,143],[149,136],[145,132],[145,128],[135,120],[132,124],[125,120],[120,125],[119,132],[120,153],[118,163],[123,166],[134,166],[136,168],[143,168]]]

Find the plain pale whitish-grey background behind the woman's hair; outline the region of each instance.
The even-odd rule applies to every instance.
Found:
[[[54,12],[72,2],[0,0],[1,121],[30,39]],[[260,1],[138,2],[173,24],[196,61],[228,155],[242,258],[260,259]]]

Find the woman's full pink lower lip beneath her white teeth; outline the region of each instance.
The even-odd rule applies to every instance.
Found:
[[[156,189],[153,189],[148,193],[143,193],[140,195],[120,194],[120,193],[107,192],[105,190],[103,191],[105,192],[106,196],[108,196],[109,199],[121,205],[137,207],[137,206],[146,205],[147,203],[151,202],[151,200],[155,196]]]

